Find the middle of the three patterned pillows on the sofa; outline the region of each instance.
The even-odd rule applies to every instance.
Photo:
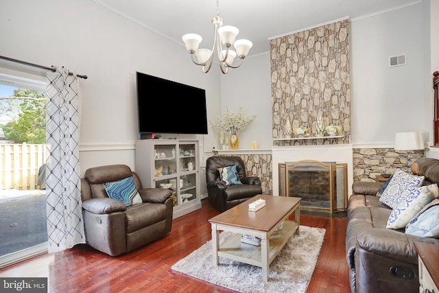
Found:
[[[431,202],[431,200],[434,200],[438,196],[439,188],[436,183],[414,189],[414,191],[412,191],[405,200],[401,200],[398,207],[393,209],[392,213],[390,213],[387,228],[404,228],[410,220],[412,220],[414,215],[425,207],[425,204]]]

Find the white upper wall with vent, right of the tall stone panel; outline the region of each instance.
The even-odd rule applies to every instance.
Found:
[[[423,82],[423,5],[351,22],[352,142],[394,143],[395,132],[429,132]],[[388,58],[407,54],[407,65]]]

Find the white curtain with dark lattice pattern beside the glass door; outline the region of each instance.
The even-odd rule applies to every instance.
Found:
[[[49,253],[85,243],[79,163],[80,78],[47,71],[46,200]]]

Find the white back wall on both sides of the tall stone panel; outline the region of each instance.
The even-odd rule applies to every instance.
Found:
[[[430,131],[431,113],[425,109],[431,99],[423,79],[423,58],[429,52],[423,45],[423,8],[418,3],[351,21],[353,145],[393,144],[395,132]],[[399,54],[407,54],[407,65],[389,68],[388,58]],[[262,148],[271,148],[270,71],[267,53],[248,58],[221,78],[222,111],[241,105],[245,113],[257,115],[239,135],[243,148],[255,138]]]

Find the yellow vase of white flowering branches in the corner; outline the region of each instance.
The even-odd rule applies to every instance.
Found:
[[[242,108],[239,107],[236,113],[228,110],[226,107],[226,113],[223,116],[218,116],[216,121],[211,121],[213,128],[219,129],[219,131],[230,132],[230,149],[237,150],[239,147],[239,139],[237,134],[248,126],[256,115],[245,116],[242,113]]]

